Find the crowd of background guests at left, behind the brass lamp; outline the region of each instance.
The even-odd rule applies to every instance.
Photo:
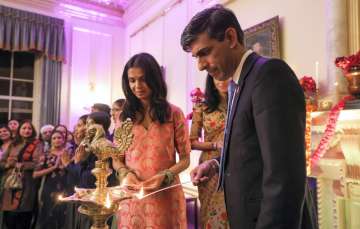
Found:
[[[111,118],[118,123],[124,101],[115,101],[113,109],[94,104],[73,131],[62,124],[47,124],[37,134],[30,120],[12,119],[0,125],[0,228],[90,228],[90,220],[77,212],[77,204],[60,203],[58,198],[72,195],[75,186],[95,187],[91,170],[97,158],[80,146],[86,122],[102,125],[112,139]],[[108,185],[118,184],[112,170]]]

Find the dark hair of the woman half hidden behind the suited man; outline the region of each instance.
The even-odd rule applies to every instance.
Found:
[[[206,76],[206,85],[205,85],[205,105],[206,112],[211,113],[218,109],[220,104],[220,93],[215,87],[214,78],[210,75]]]

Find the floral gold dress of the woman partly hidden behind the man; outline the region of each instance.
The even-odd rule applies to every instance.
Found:
[[[219,109],[208,113],[202,103],[194,105],[190,139],[199,139],[204,131],[204,142],[221,142],[224,138],[226,119],[226,103],[219,105]],[[218,150],[203,151],[199,163],[220,156]],[[217,192],[218,176],[198,186],[200,199],[201,228],[229,228],[224,193]]]

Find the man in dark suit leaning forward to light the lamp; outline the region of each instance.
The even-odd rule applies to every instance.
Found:
[[[220,5],[196,14],[182,33],[199,70],[232,78],[234,88],[221,160],[200,164],[191,178],[201,185],[220,171],[231,228],[298,229],[306,176],[303,91],[284,61],[246,50],[243,37],[234,13]]]

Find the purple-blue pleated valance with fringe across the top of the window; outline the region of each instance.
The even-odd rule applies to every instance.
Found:
[[[37,51],[63,62],[64,20],[0,5],[0,49]]]

